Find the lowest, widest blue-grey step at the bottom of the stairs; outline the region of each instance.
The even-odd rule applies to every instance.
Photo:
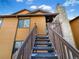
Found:
[[[32,53],[32,59],[58,59],[55,53]]]

